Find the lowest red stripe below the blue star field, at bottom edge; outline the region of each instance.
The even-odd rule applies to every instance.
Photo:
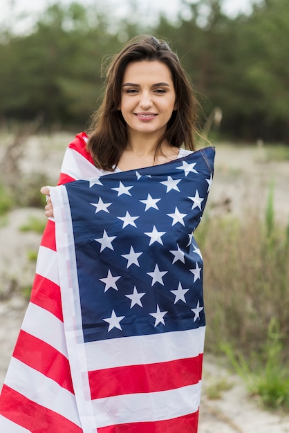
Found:
[[[97,433],[197,433],[198,412],[164,421],[129,423],[97,428]]]

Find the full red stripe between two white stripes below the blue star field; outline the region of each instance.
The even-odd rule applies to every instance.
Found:
[[[177,389],[201,380],[203,354],[147,365],[88,371],[91,398]]]

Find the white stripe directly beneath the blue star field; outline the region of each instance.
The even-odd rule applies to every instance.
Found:
[[[84,344],[88,371],[193,358],[204,351],[205,326],[189,331],[112,338]]]

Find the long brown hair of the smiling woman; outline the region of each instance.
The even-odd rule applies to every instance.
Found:
[[[127,65],[142,60],[158,60],[167,65],[176,93],[177,109],[172,113],[167,129],[158,141],[156,152],[164,140],[174,147],[184,145],[186,149],[195,149],[199,106],[178,56],[171,51],[167,42],[153,36],[138,36],[131,39],[111,60],[106,73],[102,104],[91,116],[87,147],[95,165],[102,169],[113,169],[127,145],[127,125],[118,109],[122,80]]]

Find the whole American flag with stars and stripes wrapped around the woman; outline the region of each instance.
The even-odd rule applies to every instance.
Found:
[[[0,398],[3,432],[195,433],[205,337],[194,239],[214,149],[103,174],[68,147]],[[56,237],[55,237],[56,232]]]

